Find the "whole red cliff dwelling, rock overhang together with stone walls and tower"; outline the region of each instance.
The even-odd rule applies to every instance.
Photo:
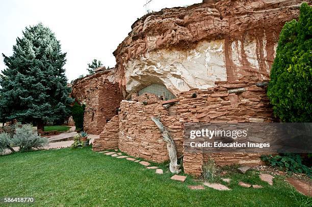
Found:
[[[73,85],[72,96],[86,103],[85,130],[100,134],[93,150],[168,160],[151,121],[160,116],[186,173],[200,175],[209,157],[259,164],[258,154],[184,153],[184,124],[274,121],[266,83],[281,28],[302,2],[212,0],[138,19],[113,53],[116,67]]]

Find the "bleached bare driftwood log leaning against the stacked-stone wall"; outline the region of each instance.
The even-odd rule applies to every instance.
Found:
[[[176,174],[179,173],[181,170],[179,169],[180,165],[177,164],[176,149],[172,137],[170,136],[169,132],[166,130],[166,128],[160,122],[159,119],[151,117],[151,120],[158,126],[163,135],[163,140],[167,143],[167,150],[170,158],[169,164],[170,171]]]

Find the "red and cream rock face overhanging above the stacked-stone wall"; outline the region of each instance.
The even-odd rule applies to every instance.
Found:
[[[161,83],[176,94],[251,74],[269,78],[281,28],[298,17],[303,1],[205,2],[150,13],[132,25],[114,51],[126,92]]]

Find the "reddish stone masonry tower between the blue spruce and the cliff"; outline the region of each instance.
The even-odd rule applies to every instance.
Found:
[[[117,114],[123,99],[118,83],[110,81],[110,71],[96,73],[75,82],[71,96],[86,105],[84,130],[89,134],[100,134],[107,121]]]

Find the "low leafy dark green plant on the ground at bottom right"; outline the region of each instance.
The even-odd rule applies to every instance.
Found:
[[[298,154],[285,154],[285,155],[275,155],[275,156],[263,155],[261,159],[273,167],[278,167],[280,170],[312,175],[311,168],[301,163],[302,159],[300,155]]]

